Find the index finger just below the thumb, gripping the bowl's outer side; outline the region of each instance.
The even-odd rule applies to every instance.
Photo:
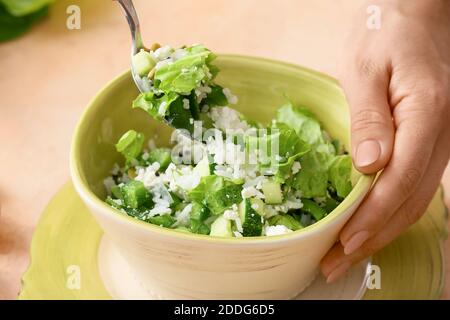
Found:
[[[403,105],[398,107],[404,108]],[[414,113],[412,104],[407,107],[406,113]],[[428,167],[440,126],[426,114],[398,117],[402,121],[398,122],[391,160],[368,197],[341,231],[340,239],[347,254],[357,250],[385,226],[410,197]]]

